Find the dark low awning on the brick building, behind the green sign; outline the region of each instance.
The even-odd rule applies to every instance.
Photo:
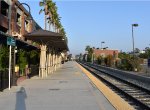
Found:
[[[14,38],[13,36],[5,34],[4,32],[0,31],[0,44],[7,45],[7,37]],[[23,41],[23,40],[20,40],[20,39],[17,39],[17,38],[15,38],[15,40],[16,40],[17,48],[21,48],[21,49],[24,49],[24,50],[27,50],[27,51],[39,49],[39,47],[31,45],[26,41]]]

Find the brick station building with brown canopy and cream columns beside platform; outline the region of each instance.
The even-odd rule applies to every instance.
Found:
[[[63,35],[43,30],[29,11],[17,0],[11,0],[11,3],[9,0],[0,0],[0,45],[7,46],[8,37],[16,41],[16,46],[12,46],[11,72],[14,77],[16,75],[15,50],[38,51],[40,59],[36,74],[43,78],[61,66],[62,60],[65,59],[63,57],[67,57],[66,53],[69,49]]]

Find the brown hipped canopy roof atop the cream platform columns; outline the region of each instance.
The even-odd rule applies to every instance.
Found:
[[[40,44],[48,45],[60,51],[69,50],[66,41],[61,34],[39,29],[24,35],[25,38],[39,42]]]

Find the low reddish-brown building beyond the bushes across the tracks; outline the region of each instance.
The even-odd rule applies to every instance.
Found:
[[[118,50],[111,49],[94,49],[94,56],[97,58],[98,56],[107,57],[108,55],[112,55],[115,58],[118,58]]]

